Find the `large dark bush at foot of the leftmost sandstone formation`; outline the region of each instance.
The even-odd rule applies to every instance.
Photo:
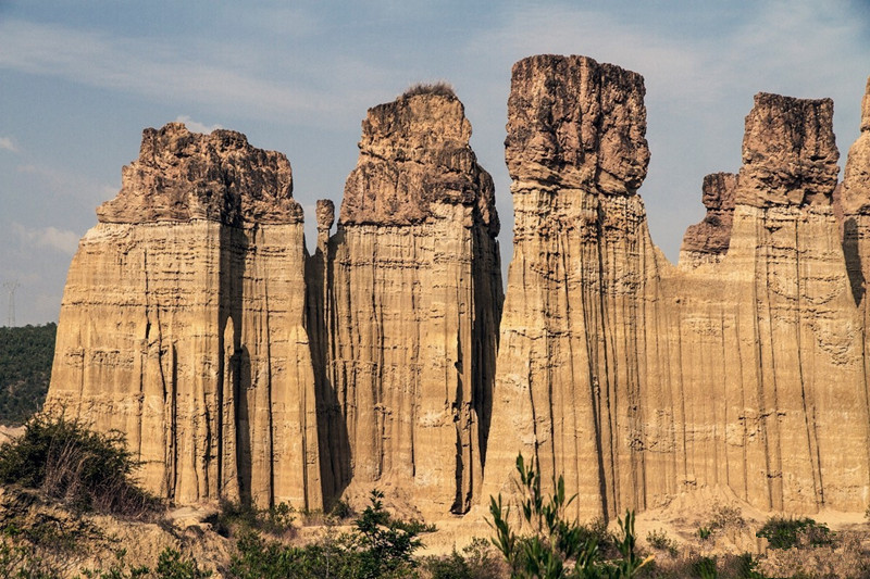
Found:
[[[140,489],[138,463],[121,433],[103,435],[63,417],[35,416],[0,445],[0,483],[39,489],[83,511],[141,518],[161,503]]]

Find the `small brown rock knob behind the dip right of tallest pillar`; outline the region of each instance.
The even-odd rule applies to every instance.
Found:
[[[733,173],[713,173],[704,177],[701,201],[707,215],[703,222],[686,229],[680,248],[680,267],[719,262],[728,253],[736,189],[737,176]]]

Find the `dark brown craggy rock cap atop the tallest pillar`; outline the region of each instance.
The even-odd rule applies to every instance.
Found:
[[[646,177],[644,78],[587,56],[513,65],[505,156],[514,180],[634,194]]]

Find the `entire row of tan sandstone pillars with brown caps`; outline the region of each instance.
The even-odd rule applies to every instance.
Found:
[[[637,194],[644,91],[584,56],[514,65],[507,298],[493,181],[443,87],[369,111],[310,255],[284,155],[146,130],[73,261],[48,406],[124,432],[178,503],[378,488],[437,519],[513,492],[522,452],[583,517],[698,487],[862,512],[870,84],[840,186],[832,102],[756,96],[679,268]]]

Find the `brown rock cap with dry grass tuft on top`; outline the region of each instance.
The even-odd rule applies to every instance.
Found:
[[[452,90],[436,87],[369,109],[340,224],[423,223],[433,204],[448,203],[476,206],[477,218],[498,234],[493,179],[469,144],[464,108]]]

